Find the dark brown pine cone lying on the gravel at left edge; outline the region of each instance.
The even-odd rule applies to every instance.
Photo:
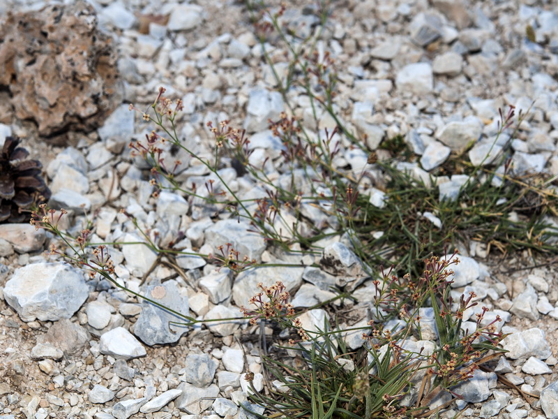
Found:
[[[17,147],[20,140],[6,137],[0,152],[0,223],[22,223],[31,219],[32,205],[46,203],[50,189],[40,175],[38,160],[26,160],[29,152]]]

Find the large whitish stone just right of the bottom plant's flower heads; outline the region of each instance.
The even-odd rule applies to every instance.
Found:
[[[538,328],[512,333],[502,341],[502,347],[508,351],[506,358],[513,360],[531,356],[544,360],[552,354],[545,332]]]

